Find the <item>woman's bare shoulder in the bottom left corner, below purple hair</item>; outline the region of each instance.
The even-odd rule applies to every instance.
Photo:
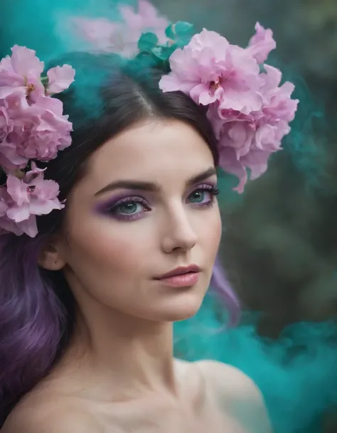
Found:
[[[72,400],[34,396],[18,404],[0,433],[102,433],[95,417]]]

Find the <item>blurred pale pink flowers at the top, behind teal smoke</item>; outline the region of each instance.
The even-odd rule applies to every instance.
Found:
[[[156,8],[146,0],[138,1],[138,11],[132,6],[119,6],[121,21],[107,18],[75,18],[73,21],[82,36],[106,53],[117,53],[133,58],[138,53],[138,41],[143,33],[154,32],[159,43],[166,43],[166,18],[159,16]]]

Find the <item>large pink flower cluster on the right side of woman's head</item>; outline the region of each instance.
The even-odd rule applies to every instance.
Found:
[[[281,149],[290,131],[298,100],[294,85],[264,62],[276,47],[272,31],[259,23],[247,48],[230,44],[213,31],[203,30],[169,58],[171,72],[159,86],[164,92],[182,91],[208,107],[218,139],[220,166],[239,178],[242,192],[250,178],[267,169],[270,154]]]

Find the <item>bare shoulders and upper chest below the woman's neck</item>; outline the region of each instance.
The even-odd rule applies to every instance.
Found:
[[[239,370],[213,361],[176,360],[175,367],[176,395],[152,391],[139,399],[102,402],[69,390],[69,383],[58,391],[44,383],[16,407],[3,432],[272,432],[260,392]]]

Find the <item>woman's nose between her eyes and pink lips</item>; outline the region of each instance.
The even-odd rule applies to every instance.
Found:
[[[190,251],[197,242],[196,231],[191,225],[188,213],[182,207],[167,210],[164,222],[162,249],[169,253],[177,250]]]

